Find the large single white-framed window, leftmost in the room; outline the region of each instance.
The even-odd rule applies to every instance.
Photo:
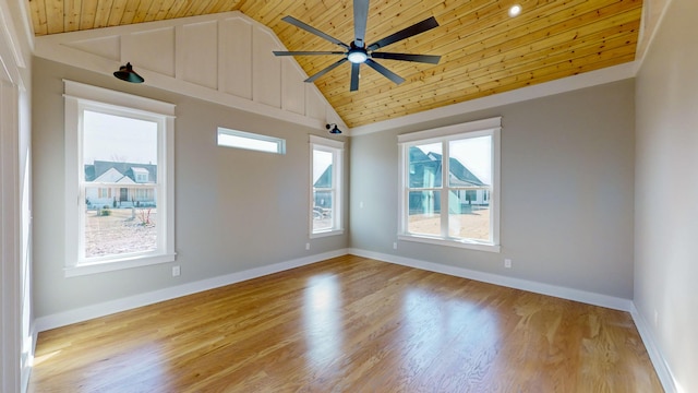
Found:
[[[65,83],[65,274],[174,260],[174,106]]]

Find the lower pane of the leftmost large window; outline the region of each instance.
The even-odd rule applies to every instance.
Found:
[[[85,188],[85,258],[156,250],[156,217],[155,187]]]

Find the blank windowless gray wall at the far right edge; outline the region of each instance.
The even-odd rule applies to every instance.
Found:
[[[635,305],[698,392],[698,1],[673,0],[637,78]]]

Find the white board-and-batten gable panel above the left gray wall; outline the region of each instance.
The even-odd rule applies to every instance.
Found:
[[[131,62],[145,85],[265,117],[348,129],[267,26],[239,11],[53,34],[35,55],[111,76]],[[153,56],[154,51],[158,55]]]

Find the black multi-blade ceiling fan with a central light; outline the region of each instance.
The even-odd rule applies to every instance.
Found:
[[[407,28],[404,28],[397,33],[394,33],[377,41],[365,45],[364,36],[366,32],[366,21],[369,20],[369,0],[353,0],[353,34],[354,39],[351,44],[347,45],[339,39],[329,36],[293,16],[285,16],[281,21],[290,23],[297,27],[300,27],[309,33],[312,33],[321,38],[324,38],[335,45],[344,48],[342,51],[279,51],[275,50],[276,56],[316,56],[316,55],[342,55],[344,57],[337,62],[315,73],[306,79],[304,82],[315,82],[320,76],[334,70],[338,66],[349,61],[351,63],[351,85],[349,91],[354,92],[359,90],[359,68],[362,63],[376,70],[390,81],[400,84],[405,82],[400,75],[381,66],[373,59],[389,59],[389,60],[402,60],[402,61],[417,61],[430,64],[438,64],[441,56],[433,55],[411,55],[411,53],[394,53],[394,52],[380,52],[376,51],[380,48],[386,47],[390,44],[395,44],[411,36],[424,33],[438,26],[438,22],[434,16],[431,16],[422,22],[416,23]]]

